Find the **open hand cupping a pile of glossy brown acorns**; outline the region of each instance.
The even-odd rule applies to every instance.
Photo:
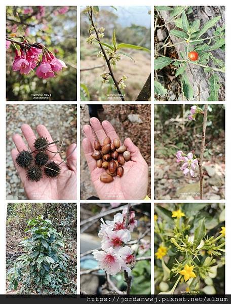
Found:
[[[143,159],[140,151],[130,138],[124,141],[127,150],[131,153],[131,160],[123,166],[124,174],[122,177],[114,176],[111,183],[100,181],[103,168],[96,166],[96,160],[91,155],[94,151],[94,140],[98,138],[102,145],[105,137],[110,137],[111,141],[119,138],[113,126],[108,121],[103,121],[102,125],[97,118],[90,119],[90,125],[83,128],[86,138],[83,140],[84,154],[91,172],[91,179],[96,192],[101,200],[142,200],[147,194],[148,185],[148,166]]]

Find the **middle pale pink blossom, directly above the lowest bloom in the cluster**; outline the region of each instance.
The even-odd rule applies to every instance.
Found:
[[[107,229],[105,232],[106,235],[103,236],[101,242],[101,247],[103,250],[112,247],[118,251],[125,243],[131,240],[131,234],[129,230],[111,231],[110,229]]]

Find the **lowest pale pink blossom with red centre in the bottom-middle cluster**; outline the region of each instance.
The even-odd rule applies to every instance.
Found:
[[[94,258],[99,261],[99,267],[108,275],[116,275],[126,264],[120,255],[113,248],[106,248],[105,251],[93,251]]]

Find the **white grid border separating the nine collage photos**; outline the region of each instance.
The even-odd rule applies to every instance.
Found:
[[[111,3],[112,5],[115,5],[114,3]],[[6,267],[6,256],[5,256],[5,248],[6,248],[6,211],[7,211],[7,203],[8,202],[13,202],[13,200],[6,200],[6,50],[5,50],[5,28],[6,28],[6,16],[5,16],[5,6],[40,6],[40,5],[47,5],[47,1],[46,0],[34,0],[33,2],[31,1],[25,1],[25,0],[20,0],[20,1],[12,1],[12,0],[4,0],[3,2],[1,2],[0,4],[0,37],[1,37],[1,48],[0,48],[0,52],[1,52],[1,56],[0,56],[0,67],[1,67],[1,81],[0,81],[0,94],[1,94],[1,99],[0,99],[0,123],[1,123],[1,132],[0,132],[0,142],[1,142],[1,146],[2,149],[0,149],[0,159],[2,160],[2,162],[4,163],[4,165],[2,165],[2,169],[1,169],[1,174],[0,174],[0,294],[5,294],[5,280],[6,280],[6,272],[5,272],[5,267]],[[78,20],[77,20],[77,24],[78,24],[78,38],[80,36],[80,6],[86,6],[86,5],[110,5],[110,3],[106,0],[92,0],[92,1],[84,1],[84,0],[79,0],[79,1],[73,1],[73,0],[68,0],[66,2],[57,2],[55,0],[50,0],[49,1],[49,6],[62,6],[62,5],[69,5],[69,6],[77,6],[78,7]],[[178,6],[178,5],[191,5],[191,3],[189,1],[161,1],[161,0],[157,0],[157,1],[151,1],[151,0],[143,0],[142,3],[139,1],[131,1],[131,0],[127,0],[126,3],[122,0],[118,0],[116,3],[117,6],[140,6],[140,5],[144,5],[144,6],[150,6],[151,7],[151,45],[153,46],[153,6],[158,6],[158,5],[166,5],[166,6]],[[224,5],[226,7],[226,11],[225,11],[225,16],[226,16],[226,60],[225,60],[225,65],[226,65],[226,77],[225,77],[225,83],[226,83],[226,102],[225,103],[225,118],[226,118],[226,122],[225,122],[225,126],[226,126],[226,136],[225,136],[225,170],[226,170],[226,174],[225,174],[225,208],[226,208],[226,264],[225,264],[225,285],[226,285],[226,293],[230,293],[229,289],[230,288],[230,279],[229,279],[229,275],[231,272],[231,259],[228,258],[231,254],[231,221],[229,220],[229,215],[231,214],[231,158],[229,157],[229,151],[231,151],[231,144],[230,144],[230,135],[229,135],[229,130],[231,131],[231,110],[230,110],[230,105],[229,103],[231,102],[231,91],[229,88],[230,80],[231,80],[231,72],[228,70],[228,67],[231,66],[231,59],[230,57],[228,57],[228,54],[230,54],[230,44],[231,44],[231,18],[230,18],[230,13],[231,13],[231,3],[228,1],[198,1],[195,0],[193,2],[194,6],[216,6],[216,5]],[[77,40],[77,58],[78,58],[78,66],[80,63],[80,39]],[[151,71],[153,71],[153,66],[154,66],[154,62],[153,62],[153,47],[152,47],[152,51],[151,51]],[[151,74],[151,81],[153,84],[153,72]],[[152,85],[153,88],[153,85]],[[78,94],[78,102],[50,102],[52,104],[78,104],[77,107],[77,119],[80,117],[80,104],[88,104],[89,102],[80,102],[80,71],[78,69],[78,74],[77,74],[77,94]],[[151,96],[151,100],[153,100],[153,91],[152,91],[152,96]],[[38,102],[7,102],[7,104],[37,104]],[[40,101],[40,104],[47,104],[47,101]],[[99,103],[99,102],[91,102],[93,103]],[[107,104],[132,104],[135,102],[107,102]],[[176,104],[176,102],[155,102],[155,104]],[[183,104],[183,103],[188,103],[191,104],[190,102],[177,102],[178,104]],[[209,103],[209,102],[198,102],[199,104],[205,104],[205,103]],[[221,102],[211,102],[212,104],[221,104]],[[136,103],[137,104],[137,103]],[[141,102],[139,102],[139,104],[141,104]],[[154,155],[153,155],[153,147],[154,147],[154,137],[153,137],[153,129],[154,129],[154,123],[153,123],[153,101],[152,102],[145,102],[145,104],[151,104],[151,212],[153,215],[154,212],[154,199],[153,199],[153,195],[154,195],[154,168],[153,168],[153,161],[154,161]],[[78,139],[77,139],[77,149],[78,149],[78,172],[80,172],[80,122],[78,120],[78,126],[77,126],[77,134],[78,134]],[[78,200],[77,201],[68,201],[65,200],[65,202],[77,202],[78,203],[78,240],[79,240],[79,236],[80,236],[80,202],[88,202],[87,200],[81,200],[80,201],[80,174],[78,174],[78,185],[77,185],[77,192],[78,192]],[[17,200],[14,200],[15,202],[18,202]],[[224,200],[220,200],[220,201],[214,201],[214,200],[210,200],[210,202],[222,202]],[[24,201],[21,201],[24,202]],[[27,200],[26,202],[36,202],[33,200]],[[48,200],[48,201],[39,201],[39,202],[54,202],[52,200]],[[57,200],[55,202],[63,202],[62,200]],[[94,201],[91,201],[94,202]],[[99,201],[97,201],[99,202]],[[101,201],[101,202],[108,202],[108,201]],[[120,201],[118,200],[118,202],[125,202],[125,201]],[[130,201],[127,200],[126,202],[140,202],[140,201]],[[145,202],[145,201],[144,201]],[[155,200],[155,203],[161,202],[160,200]],[[166,203],[172,203],[172,202],[185,202],[184,200],[164,200],[164,202]],[[198,200],[197,202],[205,202],[205,201],[201,201]],[[145,202],[146,203],[146,202]],[[153,237],[154,237],[154,232],[153,232],[153,223],[151,226],[151,240],[153,241]],[[80,266],[80,242],[77,243],[78,244],[78,248],[77,248],[77,262],[78,262],[78,270],[79,270],[79,266]],[[153,244],[152,244],[153,245]],[[153,250],[151,251],[151,292],[153,293],[154,291],[154,271],[153,271],[153,257],[154,257],[154,252]],[[78,293],[80,292],[80,274],[78,271]]]

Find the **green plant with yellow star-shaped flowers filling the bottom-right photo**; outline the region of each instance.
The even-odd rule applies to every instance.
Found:
[[[224,292],[224,204],[167,205],[155,206],[156,292]]]

